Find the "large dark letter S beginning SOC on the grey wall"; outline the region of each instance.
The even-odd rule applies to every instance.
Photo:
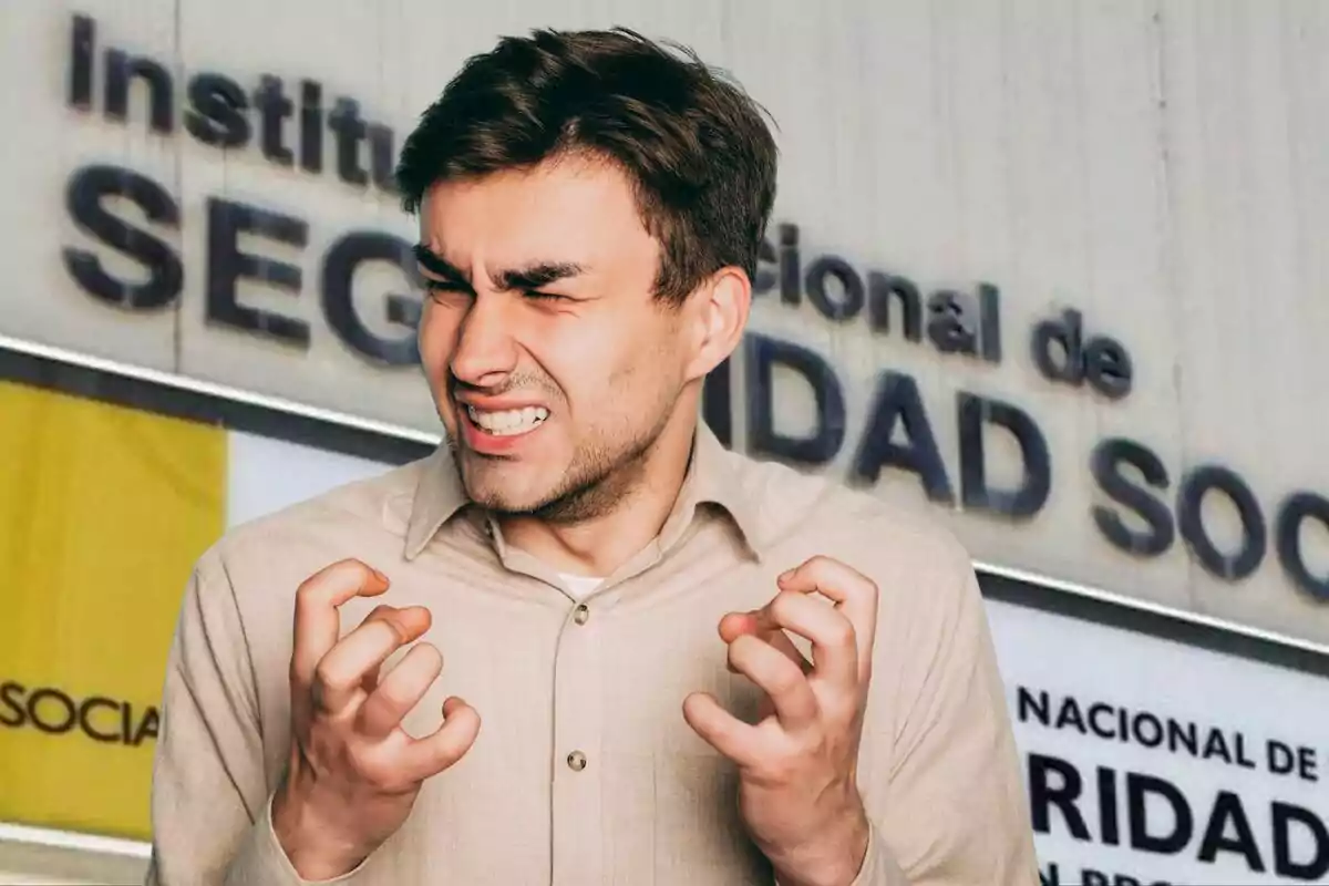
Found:
[[[1172,546],[1176,529],[1167,505],[1136,486],[1122,474],[1122,466],[1131,465],[1140,478],[1154,489],[1167,489],[1167,468],[1152,449],[1132,440],[1112,437],[1094,448],[1091,470],[1099,489],[1112,501],[1123,505],[1144,521],[1148,529],[1130,529],[1120,514],[1102,505],[1094,506],[1094,523],[1118,550],[1138,557],[1156,557]]]

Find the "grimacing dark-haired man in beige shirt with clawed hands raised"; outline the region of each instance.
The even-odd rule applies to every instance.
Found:
[[[775,197],[752,102],[537,32],[399,179],[449,445],[199,559],[149,882],[1037,883],[965,553],[698,422]]]

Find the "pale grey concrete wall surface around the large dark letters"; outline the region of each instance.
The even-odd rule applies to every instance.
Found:
[[[76,12],[97,25],[86,110],[68,98]],[[1050,494],[1035,515],[929,502],[904,472],[882,474],[880,494],[946,521],[983,561],[1329,640],[1329,612],[1288,574],[1275,543],[1290,494],[1329,497],[1324,4],[844,0],[813,12],[785,0],[25,0],[4,16],[3,335],[437,430],[417,373],[367,360],[320,306],[330,246],[352,231],[409,240],[411,219],[372,183],[339,181],[331,134],[322,174],[274,165],[256,134],[229,151],[199,142],[183,124],[186,84],[215,72],[253,94],[262,74],[274,74],[299,106],[299,81],[312,78],[324,110],[338,96],[354,97],[400,145],[459,64],[496,36],[627,24],[691,44],[771,110],[783,150],[776,222],[799,226],[804,268],[833,254],[860,274],[904,275],[924,295],[973,294],[979,283],[1001,292],[997,364],[940,355],[897,331],[873,335],[863,316],[828,321],[807,299],[785,307],[777,294],[763,296],[754,329],[813,349],[843,384],[845,441],[819,469],[848,476],[876,376],[893,369],[917,384],[958,501],[957,392],[1011,404],[1037,422],[1051,454]],[[142,86],[126,122],[106,120],[108,48],[150,56],[173,74],[174,134],[149,132]],[[256,128],[253,112],[250,120]],[[296,130],[287,124],[288,142]],[[361,162],[371,165],[368,149]],[[146,177],[178,207],[178,224],[146,227],[181,260],[170,304],[108,304],[70,275],[69,247],[122,279],[145,278],[70,219],[69,183],[93,163]],[[298,290],[238,288],[242,304],[304,321],[307,347],[207,319],[210,198],[307,223],[303,248],[274,243],[282,226],[271,219],[259,223],[268,239],[241,239],[245,250],[299,267]],[[106,206],[144,226],[133,203]],[[239,218],[234,207],[213,214]],[[214,256],[226,244],[215,230]],[[389,291],[407,291],[400,272],[367,264],[354,306],[376,336],[409,337],[387,317]],[[1090,335],[1128,349],[1128,396],[1111,400],[1037,372],[1030,329],[1069,307],[1082,311]],[[751,379],[738,376],[740,404]],[[808,421],[811,397],[797,379],[777,373],[776,383],[776,424],[793,433]],[[739,421],[738,445],[750,437]],[[1108,437],[1158,456],[1168,489],[1152,494],[1168,522],[1187,472],[1235,472],[1267,530],[1253,571],[1236,582],[1215,575],[1180,534],[1152,557],[1110,545],[1095,506],[1115,507],[1131,529],[1144,523],[1104,495],[1090,470]],[[1015,449],[1001,433],[989,434],[987,450],[994,485],[1018,478]],[[1209,495],[1200,513],[1215,545],[1232,554],[1241,538],[1235,509]],[[1305,522],[1300,555],[1313,579],[1329,583],[1329,525]]]

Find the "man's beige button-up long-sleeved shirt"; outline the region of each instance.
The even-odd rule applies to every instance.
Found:
[[[978,584],[948,534],[881,501],[730,453],[702,428],[659,537],[582,600],[465,501],[447,448],[230,531],[198,561],[165,683],[148,882],[299,883],[268,805],[290,749],[294,594],[356,557],[380,600],[429,607],[448,695],[482,727],[425,782],[356,886],[769,886],[738,817],[732,764],[684,723],[710,691],[751,712],[726,668],[731,610],[766,604],[813,554],[880,587],[860,788],[872,842],[856,886],[1034,886],[1021,770]],[[570,758],[585,758],[574,766]]]

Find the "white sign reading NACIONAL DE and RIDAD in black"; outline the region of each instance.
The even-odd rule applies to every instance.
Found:
[[[1329,878],[1325,677],[1010,603],[987,610],[1043,886]]]

